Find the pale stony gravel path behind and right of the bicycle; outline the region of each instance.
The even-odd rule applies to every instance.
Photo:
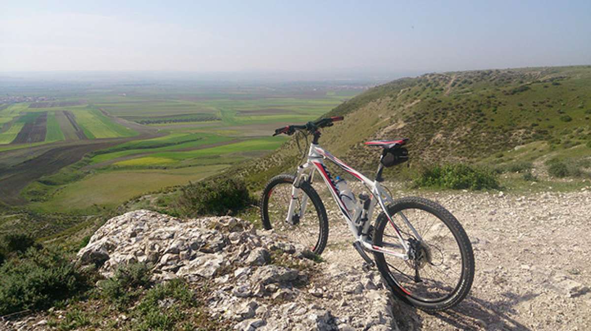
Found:
[[[476,273],[469,296],[448,312],[427,314],[392,300],[400,330],[591,329],[591,192],[419,194],[465,227]],[[333,201],[324,202],[330,237],[323,258],[361,269]]]

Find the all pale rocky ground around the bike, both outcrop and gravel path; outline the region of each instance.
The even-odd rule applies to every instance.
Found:
[[[321,263],[236,218],[181,220],[150,211],[111,219],[79,257],[101,261],[105,276],[118,264],[145,261],[154,263],[157,281],[207,281],[212,290],[203,300],[212,317],[238,330],[591,329],[591,192],[423,195],[462,222],[476,259],[472,292],[443,313],[389,296],[375,270],[362,270],[345,224],[330,208]],[[46,329],[42,318],[7,328]]]

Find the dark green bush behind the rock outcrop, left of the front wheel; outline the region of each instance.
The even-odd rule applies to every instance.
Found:
[[[181,188],[176,206],[181,215],[228,215],[251,205],[244,181],[233,178],[189,183]]]

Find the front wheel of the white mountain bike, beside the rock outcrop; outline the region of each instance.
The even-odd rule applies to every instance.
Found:
[[[329,234],[326,210],[314,188],[302,182],[299,196],[294,197],[297,199],[295,217],[291,215],[287,220],[294,179],[292,175],[278,175],[267,183],[261,196],[262,225],[320,255]]]

